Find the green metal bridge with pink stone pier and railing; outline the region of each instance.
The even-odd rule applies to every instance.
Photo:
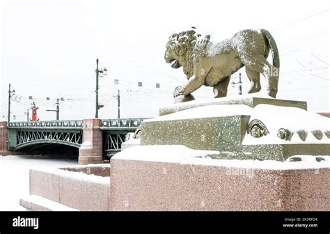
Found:
[[[125,135],[134,132],[142,121],[143,118],[10,122],[7,150],[24,151],[28,147],[49,144],[81,148],[84,141],[90,141],[93,151],[86,155],[79,150],[79,157],[100,156],[100,149],[97,149],[100,146],[102,156],[111,157],[120,151]]]

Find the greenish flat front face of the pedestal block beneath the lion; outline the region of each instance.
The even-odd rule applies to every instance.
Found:
[[[145,121],[141,125],[141,145],[183,145],[200,150],[239,146],[248,121],[249,116]]]

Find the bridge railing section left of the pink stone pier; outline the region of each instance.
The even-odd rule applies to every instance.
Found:
[[[24,121],[24,122],[10,122],[8,127],[68,127],[68,128],[82,128],[83,120],[45,120],[45,121]]]

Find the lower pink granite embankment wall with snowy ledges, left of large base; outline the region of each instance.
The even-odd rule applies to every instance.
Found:
[[[110,165],[88,164],[30,170],[26,210],[109,210]]]

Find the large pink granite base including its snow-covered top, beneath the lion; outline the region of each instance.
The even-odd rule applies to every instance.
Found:
[[[184,146],[116,154],[109,210],[330,210],[329,156],[278,162],[209,154]]]

